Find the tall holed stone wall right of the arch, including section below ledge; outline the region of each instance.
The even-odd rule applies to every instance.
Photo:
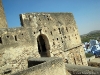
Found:
[[[72,13],[26,13],[21,14],[20,19],[23,27],[32,27],[36,38],[41,34],[47,36],[51,57],[62,57],[70,64],[87,65]]]

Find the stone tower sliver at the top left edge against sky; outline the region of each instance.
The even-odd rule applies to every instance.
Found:
[[[2,5],[2,0],[0,0],[0,28],[6,28],[7,22],[5,18],[5,13]]]

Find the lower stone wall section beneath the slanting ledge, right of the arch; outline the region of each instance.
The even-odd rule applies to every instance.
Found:
[[[82,45],[75,46],[71,49],[64,51],[66,63],[74,65],[87,65],[85,53]]]

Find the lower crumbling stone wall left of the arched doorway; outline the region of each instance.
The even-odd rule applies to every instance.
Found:
[[[30,28],[0,30],[0,74],[26,69],[29,57],[40,57],[29,30],[31,31]]]

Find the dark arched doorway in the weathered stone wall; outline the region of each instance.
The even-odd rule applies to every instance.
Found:
[[[38,52],[41,57],[50,57],[50,45],[49,40],[44,34],[40,34],[37,37]]]

